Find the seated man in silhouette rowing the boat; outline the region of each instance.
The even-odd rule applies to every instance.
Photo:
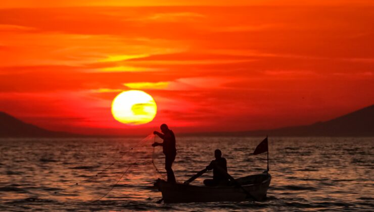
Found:
[[[228,185],[228,179],[226,175],[222,173],[223,171],[227,172],[226,159],[222,157],[222,152],[219,149],[216,149],[214,151],[214,156],[216,160],[210,162],[209,166],[206,167],[207,170],[213,169],[213,179],[204,180],[204,185],[206,186]]]

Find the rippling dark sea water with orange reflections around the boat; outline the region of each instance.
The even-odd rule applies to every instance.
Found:
[[[202,170],[217,148],[233,177],[261,173],[266,153],[252,152],[262,139],[178,137],[176,179],[183,182]],[[165,175],[162,148],[151,147],[153,138],[140,141],[1,139],[0,210],[374,210],[374,138],[269,137],[272,181],[265,201],[182,204],[156,203],[161,193],[153,183]],[[193,184],[211,176],[207,172]]]

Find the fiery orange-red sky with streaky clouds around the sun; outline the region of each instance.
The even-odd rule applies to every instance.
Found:
[[[311,124],[374,103],[372,1],[227,2],[0,3],[0,111],[133,134]],[[153,122],[113,119],[131,88],[155,98]]]

